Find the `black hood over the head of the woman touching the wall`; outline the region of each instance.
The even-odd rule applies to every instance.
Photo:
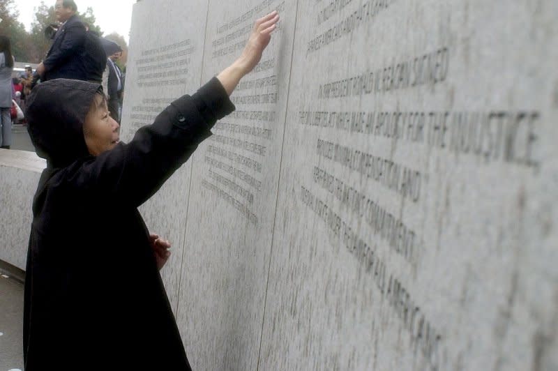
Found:
[[[89,155],[83,135],[85,117],[100,84],[54,79],[38,84],[27,99],[27,131],[38,156],[60,168]]]

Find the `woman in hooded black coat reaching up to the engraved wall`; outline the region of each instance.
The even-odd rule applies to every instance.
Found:
[[[234,110],[229,95],[278,20],[277,12],[257,20],[239,59],[128,144],[100,84],[55,79],[33,89],[28,130],[47,168],[27,255],[26,371],[190,370],[159,273],[170,245],[149,233],[137,207]]]

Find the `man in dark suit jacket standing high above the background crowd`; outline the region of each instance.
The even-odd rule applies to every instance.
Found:
[[[54,11],[62,26],[54,34],[46,59],[37,67],[41,81],[59,78],[87,80],[86,31],[75,14],[77,6],[73,0],[56,0]]]

